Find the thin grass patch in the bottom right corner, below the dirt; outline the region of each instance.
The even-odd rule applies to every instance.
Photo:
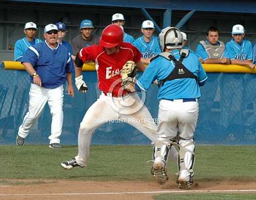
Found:
[[[254,200],[256,199],[256,194],[163,194],[154,197],[154,200]]]

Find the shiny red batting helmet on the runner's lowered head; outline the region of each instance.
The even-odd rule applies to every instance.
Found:
[[[106,48],[113,48],[122,45],[124,41],[123,29],[115,24],[108,25],[100,38],[100,45]]]

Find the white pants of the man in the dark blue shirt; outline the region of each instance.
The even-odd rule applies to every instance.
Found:
[[[63,125],[63,85],[47,89],[31,84],[29,91],[29,109],[23,119],[22,125],[18,129],[18,135],[26,138],[29,130],[35,124],[36,120],[42,114],[42,111],[48,102],[52,115],[50,144],[60,143],[60,136]]]

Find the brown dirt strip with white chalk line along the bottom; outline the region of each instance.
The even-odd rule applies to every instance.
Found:
[[[4,183],[4,184],[3,184]],[[256,182],[197,182],[191,190],[254,190]],[[191,191],[189,190],[189,191]],[[181,191],[177,189],[174,181],[165,185],[152,182],[93,182],[93,181],[63,181],[63,180],[6,180],[0,185],[0,199],[106,199],[128,200],[152,199],[153,195],[168,191]],[[184,190],[183,190],[184,191]],[[256,190],[255,190],[256,191]]]

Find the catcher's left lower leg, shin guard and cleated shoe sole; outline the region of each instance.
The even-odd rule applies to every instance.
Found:
[[[151,174],[155,177],[158,184],[165,184],[168,180],[166,161],[168,158],[170,144],[163,141],[156,141],[153,149],[154,164]]]

